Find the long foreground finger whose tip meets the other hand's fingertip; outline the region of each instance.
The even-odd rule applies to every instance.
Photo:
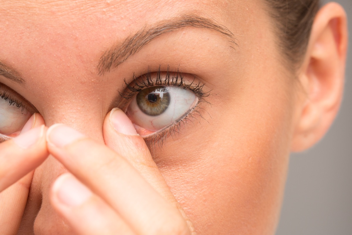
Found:
[[[62,124],[49,128],[47,140],[50,153],[138,234],[188,234],[179,211],[124,157]]]

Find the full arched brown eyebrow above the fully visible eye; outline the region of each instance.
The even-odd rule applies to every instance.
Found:
[[[227,27],[216,23],[216,21],[212,19],[195,15],[183,15],[178,18],[159,21],[150,28],[145,26],[134,35],[127,37],[121,44],[115,45],[111,49],[106,50],[100,57],[98,64],[99,75],[109,72],[111,68],[117,68],[121,63],[126,61],[128,57],[136,54],[153,39],[165,33],[173,32],[177,29],[188,26],[214,30],[227,37],[229,42],[238,46],[233,37],[233,33],[227,29]]]

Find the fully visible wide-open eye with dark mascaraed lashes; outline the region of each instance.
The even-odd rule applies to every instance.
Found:
[[[120,94],[127,103],[126,115],[149,147],[161,147],[167,136],[180,132],[181,125],[202,117],[199,109],[209,95],[194,75],[169,69],[134,76],[125,83]]]

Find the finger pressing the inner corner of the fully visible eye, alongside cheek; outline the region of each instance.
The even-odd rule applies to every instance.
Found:
[[[120,109],[113,109],[104,120],[105,144],[125,157],[139,173],[168,202],[172,203],[187,221],[191,234],[195,234],[192,223],[171,193],[161,172],[150,154],[143,138],[137,134],[131,120]]]

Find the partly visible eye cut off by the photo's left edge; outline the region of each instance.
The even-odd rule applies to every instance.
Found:
[[[24,98],[0,84],[0,143],[19,135],[34,112]]]

